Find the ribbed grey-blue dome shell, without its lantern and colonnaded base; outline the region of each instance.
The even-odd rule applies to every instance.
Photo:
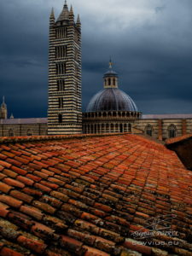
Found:
[[[99,111],[134,111],[137,112],[135,102],[124,91],[118,88],[106,88],[99,91],[90,100],[87,112]]]

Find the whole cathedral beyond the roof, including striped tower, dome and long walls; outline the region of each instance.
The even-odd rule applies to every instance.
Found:
[[[154,139],[180,137],[192,132],[191,114],[142,114],[135,102],[119,90],[118,74],[110,61],[104,89],[81,110],[81,22],[65,2],[61,15],[49,17],[48,119],[8,119],[7,105],[0,108],[0,136],[20,137],[78,133],[131,132]]]

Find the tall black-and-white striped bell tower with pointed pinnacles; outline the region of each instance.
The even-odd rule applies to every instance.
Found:
[[[48,104],[49,135],[82,132],[81,22],[67,1],[57,20],[53,9],[49,17]]]

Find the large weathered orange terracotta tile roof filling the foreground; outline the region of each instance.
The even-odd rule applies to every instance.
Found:
[[[192,172],[165,146],[5,137],[0,159],[1,256],[192,255]]]

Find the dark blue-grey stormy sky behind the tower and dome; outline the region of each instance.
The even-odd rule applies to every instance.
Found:
[[[49,12],[64,0],[0,1],[0,96],[9,114],[47,114]],[[68,0],[82,20],[83,109],[109,56],[143,113],[192,113],[191,0]]]

